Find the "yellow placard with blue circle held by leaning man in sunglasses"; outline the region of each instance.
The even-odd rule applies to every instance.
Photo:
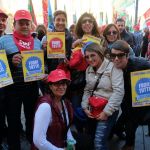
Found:
[[[150,69],[131,72],[132,107],[150,106]]]

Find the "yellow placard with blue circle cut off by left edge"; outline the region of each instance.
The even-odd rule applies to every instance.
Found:
[[[0,88],[13,84],[5,50],[0,50]]]

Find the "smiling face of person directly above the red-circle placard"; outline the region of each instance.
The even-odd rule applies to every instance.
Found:
[[[67,19],[64,14],[58,14],[54,20],[54,26],[56,31],[63,32],[66,28]]]

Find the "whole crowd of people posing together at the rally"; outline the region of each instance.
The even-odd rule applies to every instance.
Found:
[[[131,33],[118,18],[99,28],[85,12],[67,29],[66,12],[56,10],[50,28],[33,30],[31,14],[18,10],[7,34],[8,17],[0,10],[0,51],[6,51],[14,81],[0,88],[0,150],[4,137],[8,150],[21,150],[22,132],[31,150],[108,150],[114,134],[125,140],[122,150],[134,150],[139,125],[148,125],[150,135],[150,115],[144,120],[150,107],[132,107],[130,76],[150,69],[148,27],[142,33],[135,25]],[[47,58],[47,32],[65,33],[65,58]],[[86,41],[87,35],[98,42]],[[45,75],[25,82],[21,52],[31,50],[44,52]]]

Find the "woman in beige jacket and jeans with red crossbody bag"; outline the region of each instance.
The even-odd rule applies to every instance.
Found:
[[[123,73],[104,57],[103,48],[96,43],[86,47],[85,59],[89,67],[86,69],[86,86],[81,105],[86,115],[96,120],[95,150],[108,150],[108,136],[124,96]],[[96,114],[89,101],[92,93],[99,101],[107,101],[104,108],[95,108]]]

